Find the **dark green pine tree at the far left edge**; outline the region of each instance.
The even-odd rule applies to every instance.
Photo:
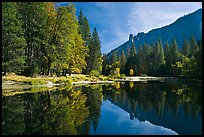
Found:
[[[25,63],[23,36],[20,14],[16,2],[2,3],[2,70],[19,73]]]

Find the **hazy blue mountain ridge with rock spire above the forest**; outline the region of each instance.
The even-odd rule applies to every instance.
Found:
[[[121,54],[122,50],[124,50],[125,54],[127,55],[127,49],[131,46],[130,35],[128,41],[111,50],[107,55],[110,56],[114,51],[116,51],[117,54]],[[178,48],[181,49],[183,41],[185,39],[189,41],[192,36],[194,36],[196,40],[200,40],[202,38],[202,8],[179,17],[169,25],[152,29],[147,33],[139,32],[133,37],[133,39],[135,47],[138,49],[139,45],[143,46],[144,43],[152,45],[152,43],[159,39],[161,39],[162,45],[164,47],[166,42],[171,44],[175,38],[178,44]]]

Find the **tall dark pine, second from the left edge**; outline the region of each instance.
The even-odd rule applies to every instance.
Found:
[[[32,75],[40,71],[42,48],[46,41],[47,12],[45,2],[22,2],[20,4],[24,36],[27,46],[25,48],[26,70]]]

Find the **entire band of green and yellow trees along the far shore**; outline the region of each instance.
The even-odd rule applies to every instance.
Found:
[[[202,39],[135,45],[111,57],[101,53],[96,28],[74,4],[2,3],[2,74],[66,76],[71,73],[113,77],[150,75],[202,78]]]

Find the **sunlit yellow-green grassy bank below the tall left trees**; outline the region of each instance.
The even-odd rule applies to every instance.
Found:
[[[61,76],[61,77],[48,77],[39,75],[37,77],[25,77],[15,74],[9,74],[7,76],[2,76],[3,89],[14,87],[30,87],[30,86],[43,86],[43,85],[70,85],[74,82],[89,81],[113,81],[113,78],[107,76],[89,76],[83,74],[72,74],[71,76]]]

